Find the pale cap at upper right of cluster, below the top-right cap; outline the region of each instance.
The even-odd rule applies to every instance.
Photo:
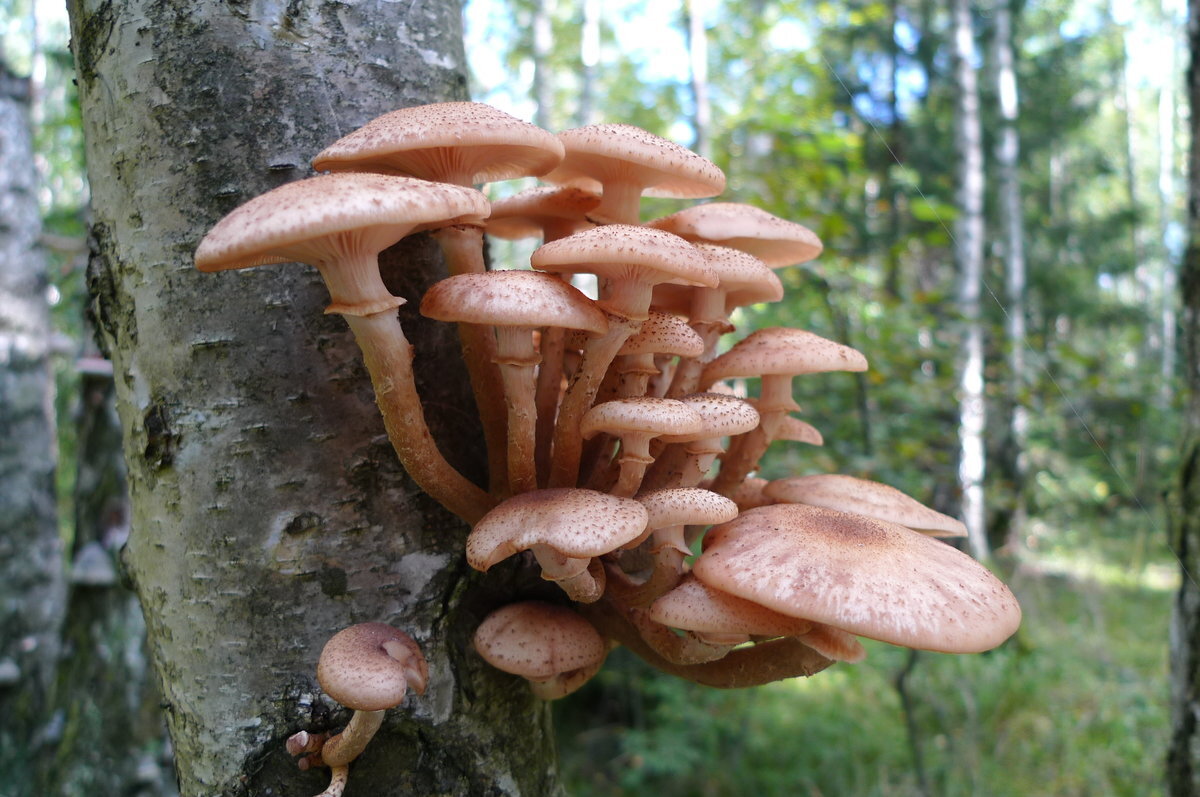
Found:
[[[821,239],[808,227],[737,202],[709,202],[648,222],[689,241],[732,246],[773,269],[821,254]]]

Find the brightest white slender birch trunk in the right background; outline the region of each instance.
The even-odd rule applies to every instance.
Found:
[[[974,29],[968,0],[954,0],[954,58],[958,104],[954,134],[958,146],[958,205],[954,257],[959,269],[958,305],[962,314],[959,349],[959,486],[962,521],[971,553],[988,558],[984,508],[984,350],[980,295],[983,290],[983,127],[976,74]]]

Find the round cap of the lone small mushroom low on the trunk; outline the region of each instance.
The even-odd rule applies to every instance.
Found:
[[[384,623],[360,623],[335,634],[317,661],[317,682],[355,711],[398,706],[412,689],[424,694],[430,670],[416,642]]]

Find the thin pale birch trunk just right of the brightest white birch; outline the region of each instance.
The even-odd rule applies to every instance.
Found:
[[[1004,332],[1008,343],[1008,478],[1012,483],[1012,509],[995,544],[1009,545],[1024,539],[1025,481],[1027,478],[1028,411],[1026,408],[1028,378],[1025,350],[1025,224],[1021,215],[1020,155],[1021,143],[1016,132],[1018,90],[1014,65],[1013,11],[1008,0],[998,0],[992,16],[994,50],[996,60],[996,96],[1000,101],[1000,137],[996,142],[1000,218],[1004,244],[1004,295],[1007,308]]]

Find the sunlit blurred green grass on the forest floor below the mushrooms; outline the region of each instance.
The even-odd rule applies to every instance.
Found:
[[[1174,583],[1064,559],[1007,577],[1019,634],[920,653],[907,678],[928,792],[894,679],[908,652],[743,691],[660,677],[618,651],[559,705],[568,791],[725,796],[1123,796],[1162,791]]]

